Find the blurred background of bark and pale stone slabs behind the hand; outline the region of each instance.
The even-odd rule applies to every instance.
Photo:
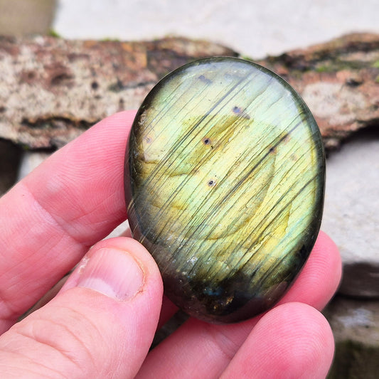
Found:
[[[336,338],[329,377],[378,378],[378,36],[359,33],[326,42],[351,31],[378,33],[378,2],[289,0],[285,9],[279,1],[262,6],[257,0],[107,4],[60,0],[52,21],[55,1],[0,0],[0,34],[53,28],[70,38],[130,41],[175,33],[232,49],[186,38],[149,43],[1,38],[0,193],[97,119],[137,107],[161,75],[199,52],[260,58],[301,92],[329,151],[322,228],[344,263],[339,294],[325,310]],[[312,43],[321,44],[292,50]],[[114,54],[103,54],[110,51]],[[267,53],[276,57],[262,59]],[[121,69],[93,73],[88,68],[95,57],[105,64],[114,59]],[[82,99],[85,107],[78,109],[69,97]]]

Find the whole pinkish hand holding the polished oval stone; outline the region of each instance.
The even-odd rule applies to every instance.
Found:
[[[240,324],[190,319],[148,353],[176,307],[164,297],[162,305],[159,270],[142,245],[102,240],[127,218],[122,171],[134,114],[99,122],[0,199],[1,378],[324,378],[334,344],[319,311],[341,277],[324,233],[274,309]],[[48,304],[16,323],[78,262]]]

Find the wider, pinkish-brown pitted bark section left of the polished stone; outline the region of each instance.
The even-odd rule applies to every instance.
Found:
[[[63,146],[114,112],[138,108],[166,73],[233,50],[205,41],[0,38],[0,138],[29,149]]]

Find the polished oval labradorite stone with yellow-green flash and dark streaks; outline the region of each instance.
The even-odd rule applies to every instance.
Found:
[[[324,162],[303,100],[260,65],[208,58],[161,80],[134,120],[125,193],[169,299],[218,323],[273,306],[319,233]]]

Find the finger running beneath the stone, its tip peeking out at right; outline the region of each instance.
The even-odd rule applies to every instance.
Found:
[[[338,249],[321,233],[298,277],[299,284],[295,282],[282,301],[305,301],[322,307],[336,290],[340,276]],[[166,378],[166,370],[172,373],[171,378],[179,377],[182,372],[189,373],[188,378],[218,378],[261,317],[230,325],[211,325],[190,319],[149,353],[137,378],[151,378],[149,373],[154,373],[157,379]],[[173,358],[167,362],[166,356]],[[196,376],[195,369],[203,376]]]

